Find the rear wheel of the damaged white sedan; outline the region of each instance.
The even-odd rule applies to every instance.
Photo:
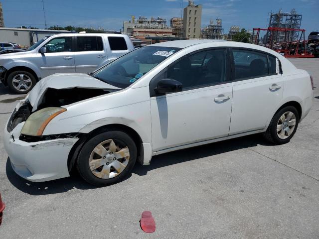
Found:
[[[263,133],[264,138],[275,144],[288,143],[297,130],[299,117],[295,107],[284,107],[270,121],[267,130]]]

